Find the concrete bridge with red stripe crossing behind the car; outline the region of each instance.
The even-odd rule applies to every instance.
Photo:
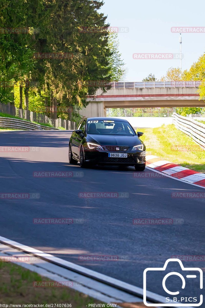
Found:
[[[106,108],[204,107],[199,100],[201,81],[112,82],[106,93],[101,89],[89,96],[83,116],[105,116]]]

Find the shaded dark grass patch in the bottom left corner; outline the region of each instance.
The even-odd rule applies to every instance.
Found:
[[[72,308],[99,304],[94,298],[69,287],[34,287],[33,282],[49,280],[10,262],[0,261],[1,304],[71,304]]]

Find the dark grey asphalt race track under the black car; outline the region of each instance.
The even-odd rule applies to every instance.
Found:
[[[205,256],[204,198],[171,196],[179,191],[204,193],[203,188],[153,176],[154,171],[148,169],[142,177],[132,167],[81,169],[69,165],[70,135],[53,131],[0,133],[0,193],[40,194],[39,199],[0,199],[1,236],[139,287],[143,287],[147,267],[162,267],[174,255]],[[2,148],[11,146],[30,148],[29,152],[5,152]],[[34,177],[34,172],[84,172],[84,176],[45,178]],[[126,192],[129,197],[79,197],[85,192]],[[83,219],[84,223],[34,224],[33,219],[39,217]],[[143,218],[180,218],[183,224],[133,224],[133,219]],[[90,255],[115,256],[117,261],[81,260]],[[183,264],[205,268],[205,261]],[[164,295],[160,279],[151,275],[148,289]],[[190,290],[196,292],[197,283],[194,280]]]

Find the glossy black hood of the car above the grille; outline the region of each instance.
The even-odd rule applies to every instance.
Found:
[[[87,139],[89,142],[100,145],[119,145],[128,147],[133,147],[134,145],[143,143],[138,136],[87,135]]]

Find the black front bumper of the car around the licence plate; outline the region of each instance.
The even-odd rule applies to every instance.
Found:
[[[85,151],[85,161],[97,165],[126,165],[135,166],[136,164],[146,164],[146,151],[127,151],[117,152],[126,153],[128,157],[108,157],[112,151]],[[113,152],[116,153],[116,152]]]

